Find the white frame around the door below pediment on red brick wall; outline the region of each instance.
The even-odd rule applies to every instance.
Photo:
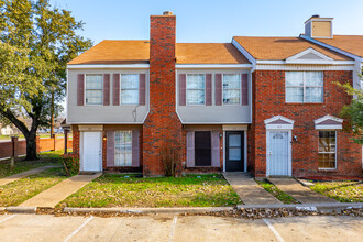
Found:
[[[266,130],[266,176],[270,176],[270,167],[271,167],[271,158],[268,155],[270,151],[270,136],[271,131],[280,131],[280,132],[287,132],[287,176],[293,176],[293,131],[290,129],[268,129]]]

